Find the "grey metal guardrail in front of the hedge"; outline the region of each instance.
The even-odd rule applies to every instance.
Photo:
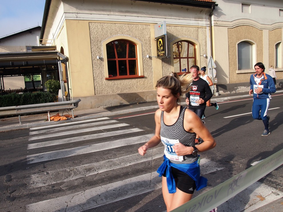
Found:
[[[71,101],[62,101],[62,102],[51,102],[43,104],[34,104],[34,105],[19,105],[11,107],[0,107],[0,117],[7,115],[19,115],[19,121],[21,124],[21,115],[30,114],[30,113],[39,113],[39,112],[48,112],[48,121],[50,121],[50,111],[57,110],[72,110],[72,117],[74,118],[73,109],[78,107],[81,100],[71,100]]]

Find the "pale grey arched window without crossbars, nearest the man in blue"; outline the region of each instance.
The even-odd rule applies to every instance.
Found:
[[[238,70],[253,69],[253,48],[247,41],[238,43]]]

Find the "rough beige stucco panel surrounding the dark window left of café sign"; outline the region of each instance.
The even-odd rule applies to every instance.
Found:
[[[150,32],[150,25],[148,24],[89,23],[95,95],[154,89],[152,62],[149,58],[146,58],[146,55],[152,55]],[[105,79],[103,59],[106,57],[102,55],[102,43],[104,40],[117,35],[123,35],[125,38],[127,36],[132,37],[141,43],[143,61],[139,61],[139,63],[143,63],[144,78]],[[97,59],[97,56],[102,56],[102,59]]]

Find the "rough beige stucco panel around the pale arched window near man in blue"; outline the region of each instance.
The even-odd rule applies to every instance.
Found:
[[[238,69],[237,44],[245,40],[256,44],[256,63],[263,61],[262,30],[251,26],[239,26],[228,29],[230,83],[249,82],[250,75],[254,72],[254,69],[251,69],[250,73],[236,73]]]

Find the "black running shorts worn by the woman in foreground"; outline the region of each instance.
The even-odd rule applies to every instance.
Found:
[[[179,190],[188,194],[194,193],[196,189],[196,182],[189,175],[174,167],[171,167],[171,172]],[[166,169],[163,176],[166,177]]]

